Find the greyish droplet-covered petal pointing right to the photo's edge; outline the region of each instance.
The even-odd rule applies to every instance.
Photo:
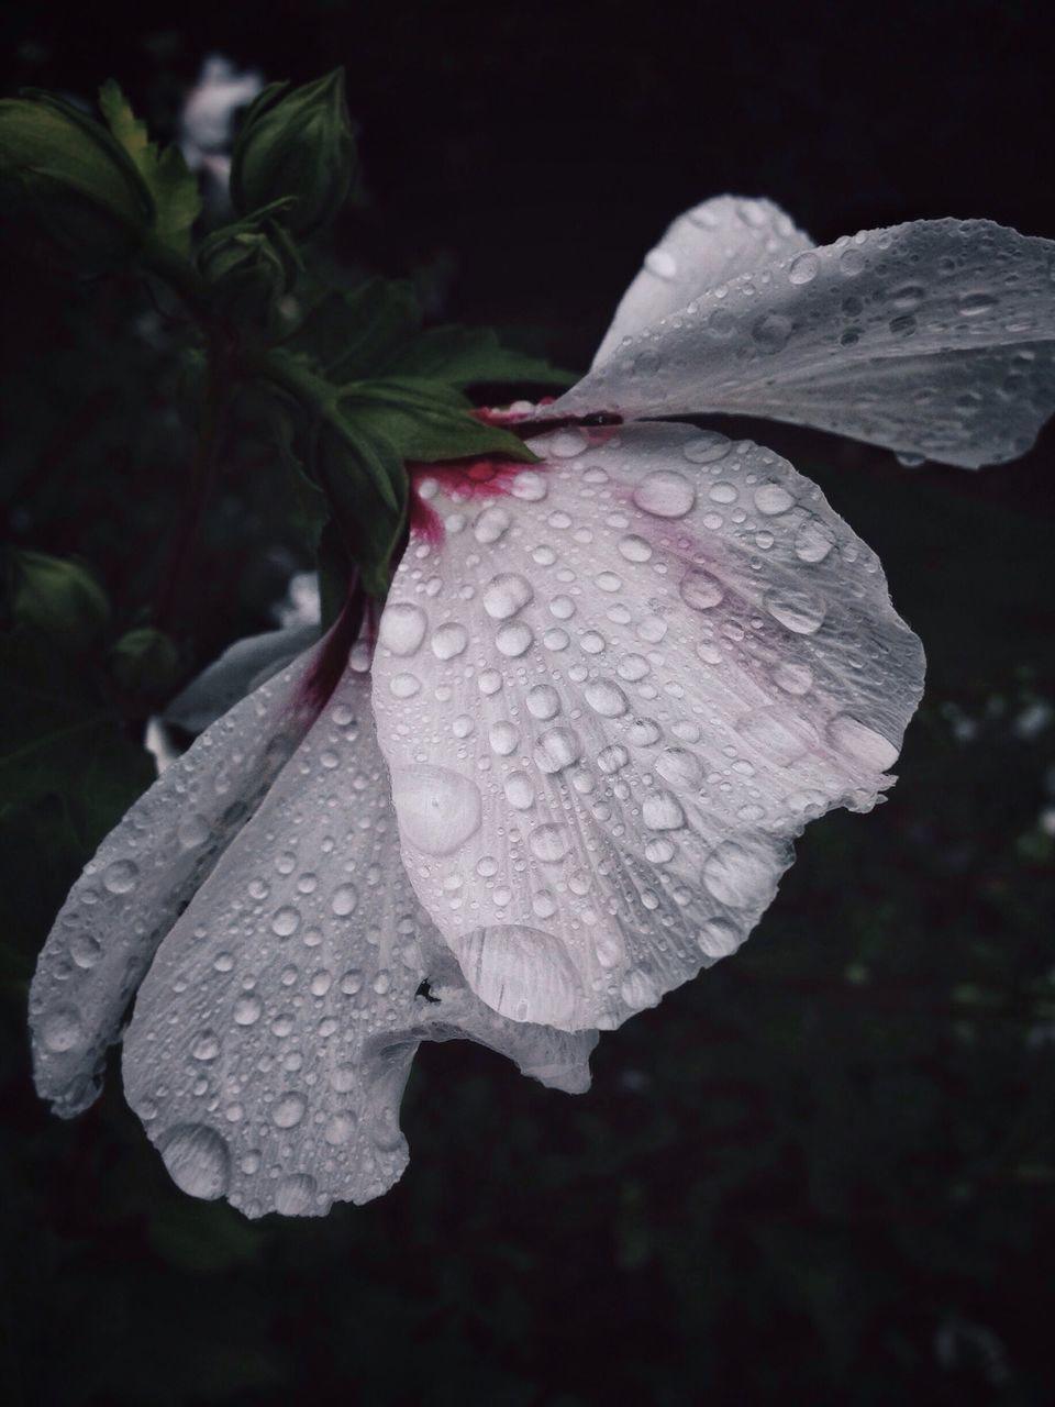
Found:
[[[982,219],[874,229],[734,279],[640,332],[550,414],[705,411],[976,469],[1055,407],[1055,243]]]

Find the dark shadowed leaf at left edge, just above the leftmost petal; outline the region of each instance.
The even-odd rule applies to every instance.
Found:
[[[89,851],[153,781],[153,758],[113,709],[41,636],[0,637],[0,795],[3,816],[46,796],[62,799]]]

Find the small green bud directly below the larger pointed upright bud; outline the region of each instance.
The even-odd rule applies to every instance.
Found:
[[[297,276],[281,232],[253,221],[210,235],[198,253],[198,269],[224,317],[266,328],[280,321],[279,305]]]

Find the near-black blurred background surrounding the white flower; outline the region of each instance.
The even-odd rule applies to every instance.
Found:
[[[769,196],[819,242],[948,214],[1055,236],[1044,17],[962,0],[101,0],[10,4],[0,32],[6,90],[91,96],[113,75],[159,129],[207,52],[294,80],[346,65],[366,187],[339,253],[582,367],[641,253],[709,194]],[[120,297],[70,345],[58,329],[86,295],[6,274],[3,369],[30,426],[10,440],[8,529],[79,552],[121,608],[169,526],[179,435],[121,360]],[[79,419],[84,348],[127,370],[97,440]],[[91,827],[46,805],[17,817],[0,1394],[1052,1401],[1055,438],[969,474],[750,429],[879,552],[927,647],[927,699],[888,805],[813,825],[747,948],[605,1036],[589,1095],[425,1047],[411,1168],[381,1202],[249,1224],[186,1199],[118,1079],[72,1124],[32,1095],[25,983]],[[293,561],[276,532],[252,488],[217,504],[184,622],[198,663],[264,625]]]

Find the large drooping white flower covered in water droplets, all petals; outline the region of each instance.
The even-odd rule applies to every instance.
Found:
[[[731,198],[678,219],[589,374],[502,416],[542,463],[415,470],[371,684],[353,650],[312,722],[301,657],[103,844],[34,982],[41,1093],[94,1097],[138,989],[129,1103],[184,1190],[257,1216],[391,1185],[421,1040],[585,1088],[596,1029],[734,951],[810,819],[875,805],[923,684],[814,485],[633,418],[1011,457],[1052,400],[1054,250],[979,221],[810,249]]]

